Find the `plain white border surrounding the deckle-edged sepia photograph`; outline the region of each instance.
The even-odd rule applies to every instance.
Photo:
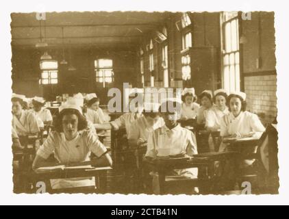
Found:
[[[5,5],[4,5],[5,4]],[[62,11],[274,11],[277,57],[277,107],[279,131],[279,195],[243,196],[147,196],[147,195],[49,195],[13,194],[12,151],[11,151],[11,34],[10,13],[12,12],[62,12]],[[1,89],[1,133],[0,133],[0,203],[5,204],[82,204],[82,205],[278,205],[288,204],[288,7],[286,1],[5,1],[1,4],[0,31],[0,89]]]

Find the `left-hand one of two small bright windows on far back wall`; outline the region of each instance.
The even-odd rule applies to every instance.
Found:
[[[58,62],[55,60],[40,61],[41,77],[40,84],[58,83]]]

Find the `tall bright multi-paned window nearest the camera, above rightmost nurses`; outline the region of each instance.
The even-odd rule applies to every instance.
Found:
[[[238,12],[224,12],[222,21],[223,87],[229,92],[240,91]]]

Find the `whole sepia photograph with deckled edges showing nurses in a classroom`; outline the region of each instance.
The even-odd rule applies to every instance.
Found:
[[[10,14],[14,194],[279,194],[275,12],[189,9]]]

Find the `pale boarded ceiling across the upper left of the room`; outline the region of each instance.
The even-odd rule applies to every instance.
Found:
[[[131,47],[142,36],[161,29],[169,12],[49,12],[42,21],[42,42],[49,48],[62,47]],[[40,21],[36,13],[11,14],[12,46],[35,47],[40,42]]]

